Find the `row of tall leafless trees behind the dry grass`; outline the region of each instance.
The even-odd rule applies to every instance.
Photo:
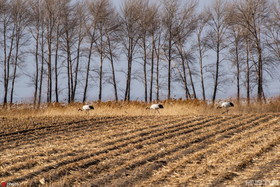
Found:
[[[130,100],[135,81],[145,102],[174,90],[215,101],[230,89],[265,100],[280,73],[279,31],[273,0],[0,0],[3,102],[24,77],[34,104],[84,102],[95,88],[101,100],[106,86]]]

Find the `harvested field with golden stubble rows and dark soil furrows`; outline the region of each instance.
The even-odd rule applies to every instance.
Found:
[[[280,114],[0,119],[1,183],[245,186],[279,177]]]

